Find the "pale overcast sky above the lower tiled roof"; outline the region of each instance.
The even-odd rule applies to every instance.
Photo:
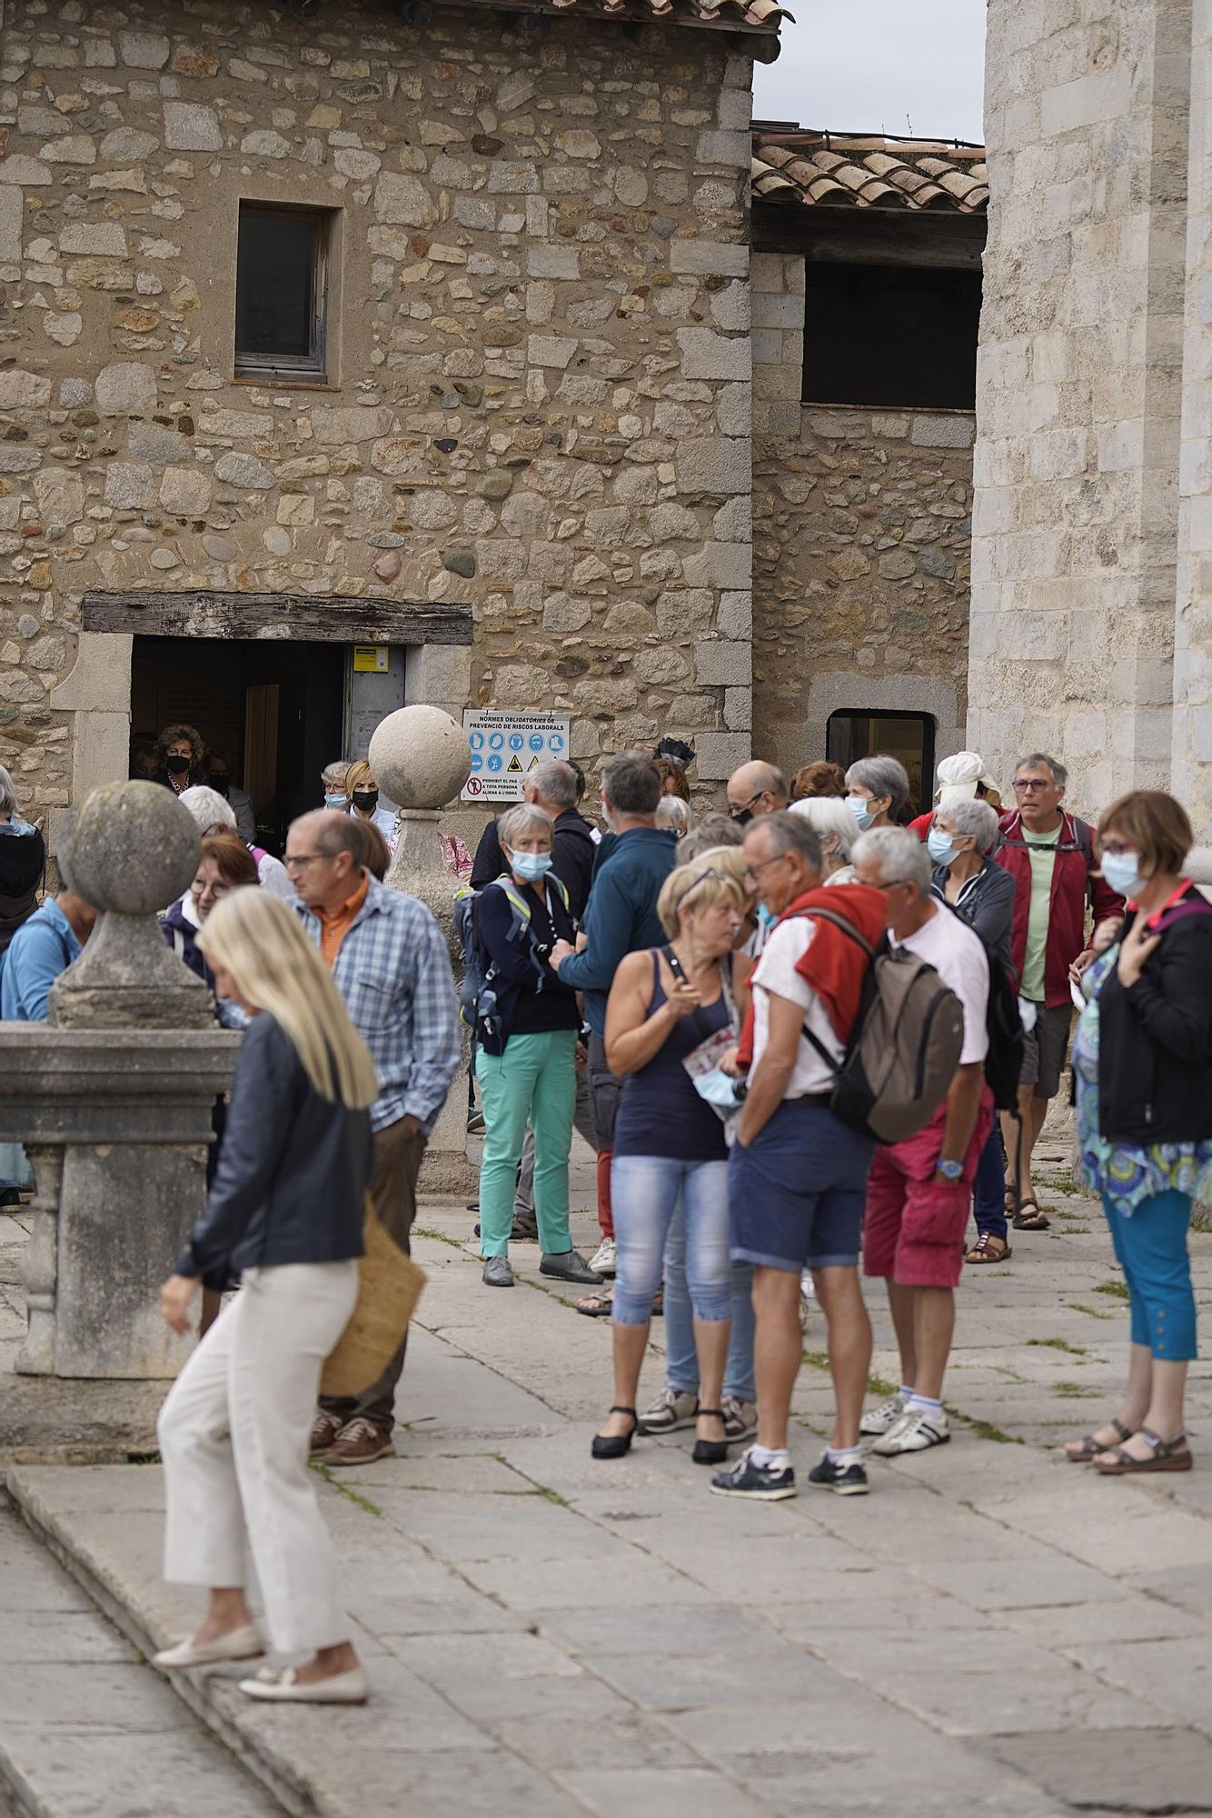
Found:
[[[845,133],[981,140],[983,0],[781,0],[776,64],[754,64],[754,118]]]

